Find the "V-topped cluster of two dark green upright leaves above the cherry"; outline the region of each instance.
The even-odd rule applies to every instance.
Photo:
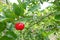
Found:
[[[13,4],[13,11],[17,16],[23,16],[24,9],[26,9],[26,3],[21,3],[19,5],[17,5],[16,3]]]

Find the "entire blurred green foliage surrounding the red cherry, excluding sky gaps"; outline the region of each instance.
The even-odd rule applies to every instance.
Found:
[[[40,10],[40,4],[48,0],[17,1],[18,4],[0,3],[0,35],[6,30],[0,40],[49,40],[50,34],[60,32],[60,0],[44,10]],[[16,22],[23,22],[25,29],[16,30]]]

